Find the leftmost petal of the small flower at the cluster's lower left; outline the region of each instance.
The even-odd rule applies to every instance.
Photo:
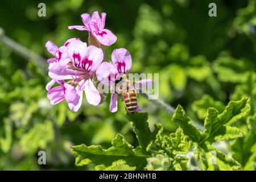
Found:
[[[64,88],[63,86],[56,86],[47,93],[47,98],[52,105],[58,104],[64,100]]]

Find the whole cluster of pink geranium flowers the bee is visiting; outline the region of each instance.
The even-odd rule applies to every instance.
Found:
[[[113,51],[111,63],[103,61],[102,47],[110,46],[117,40],[110,30],[104,28],[105,13],[102,13],[101,17],[98,11],[95,11],[92,16],[85,13],[81,15],[81,18],[84,26],[69,26],[68,28],[88,31],[90,39],[96,44],[88,46],[79,38],[67,40],[60,48],[51,41],[46,43],[48,52],[53,55],[47,60],[48,75],[52,78],[46,85],[47,97],[52,105],[65,99],[72,111],[77,111],[81,107],[83,92],[89,104],[99,105],[101,94],[94,82],[98,80],[105,86],[113,86],[117,77],[127,73],[132,65],[131,55],[125,48]],[[137,84],[142,82],[139,81]],[[151,81],[146,82],[150,85]],[[53,87],[56,84],[59,86]],[[110,101],[112,112],[117,111],[117,96],[117,93],[112,93]]]

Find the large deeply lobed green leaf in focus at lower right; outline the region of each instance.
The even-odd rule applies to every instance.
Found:
[[[201,159],[201,167],[204,170],[212,170],[213,165],[209,163],[212,159],[209,152],[215,154],[216,164],[221,170],[233,170],[241,167],[233,158],[228,158],[223,152],[212,147],[211,144],[216,140],[228,140],[242,137],[241,132],[232,127],[234,122],[240,120],[250,111],[249,98],[243,98],[240,101],[230,101],[225,110],[219,114],[217,109],[210,107],[205,118],[204,132],[200,132],[191,123],[191,119],[187,117],[183,108],[179,105],[175,110],[172,121],[177,123],[184,131],[184,134],[192,140],[199,149]]]

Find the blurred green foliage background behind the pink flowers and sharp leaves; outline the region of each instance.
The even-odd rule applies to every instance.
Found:
[[[38,4],[46,4],[46,17],[38,16]],[[208,5],[217,5],[217,17],[209,17]],[[203,125],[206,110],[223,110],[229,100],[251,97],[256,104],[256,1],[160,0],[160,1],[2,1],[0,27],[5,35],[49,58],[47,40],[63,45],[86,31],[68,30],[82,24],[80,15],[98,10],[107,13],[106,28],[117,42],[106,47],[106,60],[114,48],[127,48],[133,58],[131,73],[159,73],[159,98]],[[137,146],[119,102],[109,112],[109,98],[100,106],[84,100],[78,113],[65,101],[52,106],[45,89],[47,70],[26,60],[0,41],[0,169],[93,169],[76,167],[70,146],[85,143],[109,147],[121,133]],[[166,133],[177,126],[159,106],[139,97],[149,123],[164,125]],[[240,122],[246,135],[247,125]],[[38,164],[38,151],[47,154],[47,165]],[[233,152],[237,152],[235,149]],[[250,154],[236,156],[244,165]]]

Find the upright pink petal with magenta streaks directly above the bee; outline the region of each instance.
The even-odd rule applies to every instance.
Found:
[[[112,63],[119,73],[127,73],[131,69],[131,55],[125,48],[114,49]]]

